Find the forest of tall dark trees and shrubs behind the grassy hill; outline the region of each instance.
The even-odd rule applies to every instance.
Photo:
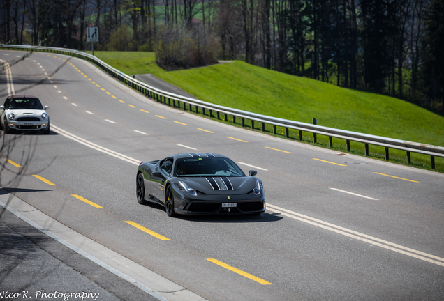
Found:
[[[0,44],[242,60],[444,111],[444,0],[3,0]]]

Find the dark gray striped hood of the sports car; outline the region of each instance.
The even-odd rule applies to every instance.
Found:
[[[205,194],[247,194],[256,187],[256,178],[252,176],[241,177],[178,177],[188,187]]]

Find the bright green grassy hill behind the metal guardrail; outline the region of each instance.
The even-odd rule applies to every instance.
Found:
[[[397,98],[286,75],[242,61],[165,72],[154,62],[154,54],[147,52],[96,52],[96,56],[126,74],[152,73],[206,102],[305,123],[314,117],[318,125],[331,128],[444,146],[444,114]],[[116,59],[112,61],[112,57]],[[405,152],[392,154],[405,158]],[[429,165],[429,157],[421,160]],[[438,165],[441,158],[436,160]]]

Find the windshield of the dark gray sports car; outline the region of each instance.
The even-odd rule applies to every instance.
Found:
[[[178,159],[176,176],[245,176],[245,174],[235,162],[226,157],[199,157]]]

